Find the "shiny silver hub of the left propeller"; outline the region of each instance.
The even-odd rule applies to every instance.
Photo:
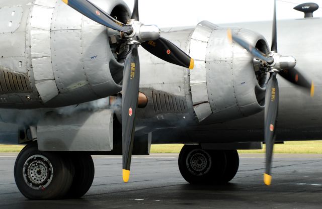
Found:
[[[129,20],[128,26],[133,28],[131,34],[125,34],[125,38],[128,40],[128,44],[141,44],[145,41],[154,41],[160,38],[161,31],[155,25],[144,25],[136,20]]]

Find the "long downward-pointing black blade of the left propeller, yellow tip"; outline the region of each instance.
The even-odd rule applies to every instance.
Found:
[[[123,181],[128,182],[135,131],[135,114],[140,83],[138,45],[131,45],[125,59],[122,95]]]

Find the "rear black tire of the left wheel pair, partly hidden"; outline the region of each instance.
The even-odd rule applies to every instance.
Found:
[[[95,168],[90,154],[70,154],[70,159],[74,165],[74,178],[67,192],[68,198],[82,197],[91,188]]]

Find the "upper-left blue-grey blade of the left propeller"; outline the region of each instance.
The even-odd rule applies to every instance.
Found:
[[[115,20],[105,11],[103,11],[93,3],[89,2],[88,0],[62,0],[62,1],[69,7],[76,10],[77,12],[83,14],[84,16],[90,18],[91,20],[101,25],[104,25],[108,28],[111,28],[117,31],[122,31],[126,34],[132,33],[133,31],[132,27],[127,26]]]

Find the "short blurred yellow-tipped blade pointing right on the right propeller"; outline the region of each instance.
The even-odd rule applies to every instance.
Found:
[[[310,91],[310,95],[312,97],[314,96],[313,81],[306,79],[296,68],[282,70],[279,74],[286,80],[308,89]]]

